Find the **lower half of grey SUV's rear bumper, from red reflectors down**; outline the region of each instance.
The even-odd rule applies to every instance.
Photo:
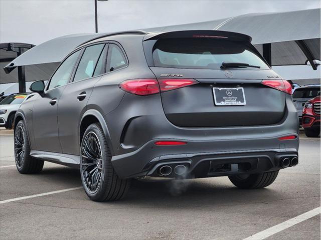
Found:
[[[188,142],[186,145],[170,146],[158,146],[154,144],[155,140],[151,140],[136,151],[113,156],[112,163],[117,174],[123,178],[144,175],[161,176],[159,168],[168,164],[173,166],[173,170],[176,165],[183,164],[187,166],[189,175],[194,177],[273,171],[283,168],[280,165],[281,156],[298,157],[298,136],[296,139],[283,141],[277,138],[184,140]],[[266,148],[272,145],[278,145],[278,147]],[[245,163],[247,165],[244,165]],[[219,164],[230,164],[230,166],[226,165],[226,169],[223,170],[215,170],[214,168],[219,167]],[[173,174],[169,177],[173,177]]]

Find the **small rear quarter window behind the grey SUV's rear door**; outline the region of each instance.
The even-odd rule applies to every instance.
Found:
[[[122,50],[116,44],[109,44],[107,56],[107,72],[119,69],[127,65],[126,58]]]

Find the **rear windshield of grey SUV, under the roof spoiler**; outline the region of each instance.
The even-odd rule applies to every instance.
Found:
[[[159,39],[152,52],[154,65],[175,68],[220,69],[222,62],[242,62],[269,69],[250,43],[226,39]]]

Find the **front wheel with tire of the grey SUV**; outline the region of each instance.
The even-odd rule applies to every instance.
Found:
[[[44,166],[44,161],[33,158],[30,155],[28,133],[23,120],[20,120],[15,128],[14,142],[15,161],[18,171],[24,174],[39,173]]]

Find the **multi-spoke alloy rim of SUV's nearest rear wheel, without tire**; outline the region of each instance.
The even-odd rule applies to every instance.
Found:
[[[95,193],[101,182],[103,162],[99,139],[93,131],[84,138],[80,164],[86,188],[90,193]]]

